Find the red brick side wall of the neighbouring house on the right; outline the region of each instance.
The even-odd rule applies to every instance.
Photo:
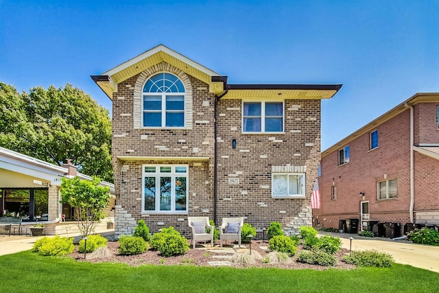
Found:
[[[313,210],[314,218],[322,226],[338,228],[341,219],[359,219],[362,200],[369,201],[370,220],[410,222],[410,110],[376,129],[378,148],[369,150],[370,134],[366,133],[348,143],[349,163],[338,166],[337,151],[322,158],[319,180],[322,209]],[[377,182],[385,178],[396,178],[397,197],[378,200]],[[332,185],[337,187],[336,200],[331,200]],[[364,198],[359,196],[360,191],[364,191]]]

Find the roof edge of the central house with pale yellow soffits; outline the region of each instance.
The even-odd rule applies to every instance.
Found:
[[[226,99],[328,99],[342,87],[342,84],[227,84],[227,76],[222,76],[164,45],[149,49],[101,75],[91,75],[91,78],[112,99],[112,93],[117,92],[117,84],[161,62],[209,84],[211,93],[217,96],[224,94]]]

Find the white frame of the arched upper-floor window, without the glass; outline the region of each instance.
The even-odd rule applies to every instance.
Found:
[[[151,75],[149,78],[147,78],[147,80],[145,80],[145,82],[143,83],[142,86],[142,91],[141,91],[141,109],[142,109],[142,115],[141,115],[141,127],[142,128],[148,128],[148,129],[184,129],[185,125],[186,125],[186,89],[185,92],[183,93],[167,93],[167,92],[163,92],[163,93],[144,93],[143,92],[143,87],[145,86],[145,84],[148,82],[148,80],[150,80],[150,78],[154,77],[155,75],[161,74],[161,73],[168,73],[171,75],[174,75],[176,78],[178,78],[178,80],[180,80],[180,82],[182,83],[182,86],[185,87],[185,84],[183,83],[183,81],[174,73],[170,73],[170,72],[157,72],[154,73],[153,75]],[[147,96],[157,96],[160,95],[161,96],[161,110],[145,110],[145,107],[143,106],[143,102],[144,102],[144,97]],[[183,110],[167,110],[166,108],[166,97],[172,97],[172,96],[183,96]],[[161,113],[161,126],[145,126],[145,122],[143,121],[143,114],[144,113]],[[166,113],[183,113],[183,123],[182,126],[166,126]]]

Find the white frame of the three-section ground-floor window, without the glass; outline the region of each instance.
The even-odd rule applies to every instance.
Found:
[[[145,167],[155,167],[155,172],[145,172]],[[171,172],[160,172],[161,167],[171,167]],[[176,172],[176,167],[186,167],[185,173]],[[155,177],[156,178],[156,194],[155,194],[155,209],[154,211],[145,210],[145,177]],[[169,211],[161,211],[160,209],[160,178],[161,177],[171,177],[171,209]],[[186,210],[178,211],[176,210],[176,186],[175,178],[185,177],[186,178]],[[189,165],[152,165],[145,164],[142,165],[142,214],[180,214],[187,215],[189,210]]]

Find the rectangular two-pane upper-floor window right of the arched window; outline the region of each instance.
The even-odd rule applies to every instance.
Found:
[[[283,102],[244,102],[242,132],[283,132]]]

